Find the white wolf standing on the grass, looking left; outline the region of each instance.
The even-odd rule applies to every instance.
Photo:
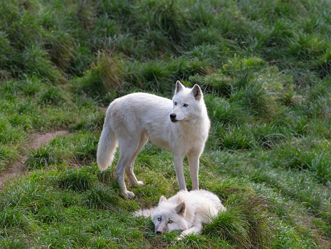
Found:
[[[133,163],[149,139],[173,152],[179,190],[187,190],[182,167],[187,155],[192,190],[198,190],[199,158],[209,128],[207,108],[197,84],[189,89],[177,81],[172,101],[148,93],[131,93],[111,102],[106,111],[97,147],[97,164],[101,171],[111,165],[118,142],[120,158],[115,167],[115,177],[123,194],[133,198],[133,192],[126,190],[124,171],[131,186],[143,184],[135,178]]]

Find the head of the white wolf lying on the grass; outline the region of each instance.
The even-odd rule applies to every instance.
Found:
[[[187,221],[185,221],[186,210],[187,204],[185,201],[173,205],[164,196],[161,196],[158,208],[152,216],[155,234],[165,231],[187,230],[188,225]]]

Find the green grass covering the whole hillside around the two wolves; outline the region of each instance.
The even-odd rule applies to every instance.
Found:
[[[312,0],[0,1],[0,172],[28,156],[28,174],[0,193],[0,248],[329,248],[330,10]],[[133,91],[171,98],[176,80],[205,92],[200,186],[229,210],[182,241],[132,215],[178,191],[171,153],[144,147],[134,200],[95,165],[98,107]],[[57,129],[70,134],[29,149],[30,133]],[[187,163],[185,176],[190,188]]]

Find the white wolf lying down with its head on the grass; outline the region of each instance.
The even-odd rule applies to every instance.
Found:
[[[158,206],[138,210],[135,214],[152,216],[155,234],[165,231],[181,230],[180,237],[191,232],[199,233],[202,223],[227,209],[216,194],[207,190],[180,191],[168,200],[161,196]]]

